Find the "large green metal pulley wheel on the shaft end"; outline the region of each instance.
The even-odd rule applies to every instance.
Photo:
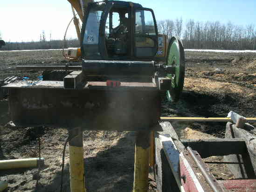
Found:
[[[185,78],[185,54],[180,38],[172,37],[169,41],[166,65],[175,67],[173,74],[167,74],[172,79],[172,85],[166,91],[167,99],[177,102],[180,99]]]

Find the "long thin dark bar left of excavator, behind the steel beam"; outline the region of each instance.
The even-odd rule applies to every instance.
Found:
[[[19,65],[16,66],[16,70],[82,70],[82,66],[65,66],[65,65],[51,65],[51,66],[43,66],[43,65]]]

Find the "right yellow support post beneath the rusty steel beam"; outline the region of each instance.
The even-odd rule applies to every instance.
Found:
[[[150,131],[138,131],[135,141],[133,192],[147,192]]]

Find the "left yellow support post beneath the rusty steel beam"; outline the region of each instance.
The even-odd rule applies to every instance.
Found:
[[[69,131],[69,174],[70,192],[86,192],[83,166],[83,132],[78,129]]]

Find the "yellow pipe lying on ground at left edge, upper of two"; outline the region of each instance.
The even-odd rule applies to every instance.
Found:
[[[44,163],[44,159],[41,158],[24,158],[24,159],[10,159],[0,161],[1,169],[14,169],[14,168],[27,168],[27,167],[38,167]]]

